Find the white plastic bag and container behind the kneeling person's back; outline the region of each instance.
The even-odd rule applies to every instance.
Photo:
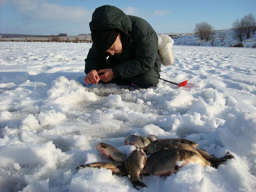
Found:
[[[174,58],[172,54],[172,45],[174,41],[168,35],[158,35],[158,49],[159,53],[162,55],[162,64],[164,66],[172,65],[174,63]]]

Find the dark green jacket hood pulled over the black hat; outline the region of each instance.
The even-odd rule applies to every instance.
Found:
[[[96,8],[89,26],[91,31],[118,28],[126,35],[132,31],[131,19],[121,9],[111,5]]]

